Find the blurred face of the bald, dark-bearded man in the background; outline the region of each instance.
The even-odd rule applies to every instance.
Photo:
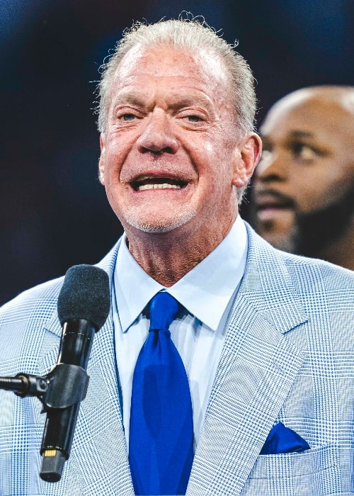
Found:
[[[268,113],[253,180],[254,220],[262,237],[280,249],[316,256],[348,227],[353,134],[353,115],[319,94]]]

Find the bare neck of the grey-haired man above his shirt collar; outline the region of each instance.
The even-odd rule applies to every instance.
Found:
[[[212,252],[227,235],[224,231],[186,235],[178,230],[164,233],[136,232],[127,227],[129,251],[139,266],[162,286],[169,288]]]

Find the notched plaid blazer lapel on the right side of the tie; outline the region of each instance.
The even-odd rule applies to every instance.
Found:
[[[304,359],[283,334],[306,320],[282,257],[250,233],[187,495],[241,492]]]

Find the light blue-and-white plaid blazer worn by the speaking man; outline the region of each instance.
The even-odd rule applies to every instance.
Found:
[[[249,227],[246,272],[229,321],[188,496],[354,494],[354,273],[278,252]],[[118,244],[101,261],[110,278]],[[0,376],[45,375],[57,361],[62,278],[0,311]],[[138,291],[138,288],[137,288]],[[45,415],[0,392],[0,495],[132,496],[108,317],[93,342],[89,392],[59,483],[39,478]],[[259,456],[281,421],[311,446]]]

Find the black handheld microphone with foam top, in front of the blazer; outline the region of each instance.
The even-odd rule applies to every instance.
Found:
[[[40,477],[57,482],[69,458],[80,402],[89,376],[86,368],[93,337],[110,311],[108,275],[92,265],[71,267],[64,278],[57,303],[62,339],[57,365],[47,375],[51,383],[40,453]]]

